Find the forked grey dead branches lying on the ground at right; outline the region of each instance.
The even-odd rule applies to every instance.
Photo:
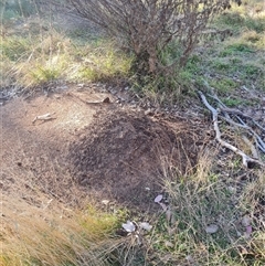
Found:
[[[251,157],[247,156],[245,152],[243,152],[242,150],[240,150],[240,149],[236,148],[235,146],[229,143],[227,141],[225,141],[225,140],[223,140],[223,139],[221,138],[221,130],[220,130],[220,128],[219,128],[219,117],[221,117],[222,119],[225,119],[227,123],[230,123],[230,124],[233,125],[233,126],[239,126],[239,127],[242,127],[242,128],[248,130],[252,135],[254,135],[254,134],[253,134],[253,132],[254,132],[253,129],[251,129],[247,125],[241,125],[241,124],[239,124],[239,123],[233,121],[233,120],[230,118],[230,116],[229,116],[227,113],[221,115],[221,109],[215,109],[213,106],[211,106],[211,105],[209,104],[206,97],[204,96],[204,94],[203,94],[202,92],[199,91],[199,95],[200,95],[200,97],[201,97],[201,99],[202,99],[202,103],[203,103],[203,104],[205,105],[205,107],[212,113],[212,120],[213,120],[213,128],[214,128],[214,131],[215,131],[215,139],[221,143],[221,146],[223,146],[223,147],[232,150],[232,151],[235,152],[236,155],[241,156],[241,157],[242,157],[243,166],[246,167],[246,168],[250,168],[251,164],[253,164],[253,163],[254,163],[254,164],[258,164],[258,166],[261,166],[261,167],[265,167],[265,164],[264,164],[259,159],[251,158]],[[218,99],[216,96],[214,96],[214,97],[215,97],[215,99]],[[219,102],[221,105],[223,105],[220,99],[218,99],[218,102]],[[225,106],[223,105],[223,107],[225,107]],[[222,111],[224,113],[224,109],[223,109]],[[250,129],[251,129],[251,130],[250,130]],[[256,136],[258,136],[258,135],[255,134],[254,137],[256,137]],[[259,136],[258,136],[258,138],[261,139]],[[262,140],[262,139],[261,139],[261,140]],[[247,141],[245,141],[245,142],[247,142]],[[263,142],[263,141],[262,141],[262,142]],[[261,146],[261,143],[259,143],[259,146]],[[259,147],[259,146],[258,146],[258,147]],[[253,149],[253,147],[251,147],[251,148]],[[263,151],[263,150],[262,150],[262,151]],[[257,152],[254,152],[254,153],[255,153],[255,156],[257,156]]]

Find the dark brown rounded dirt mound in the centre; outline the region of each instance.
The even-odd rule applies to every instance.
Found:
[[[71,172],[82,185],[134,205],[151,203],[168,167],[180,172],[195,163],[189,125],[115,109],[83,129],[70,145]],[[178,129],[178,131],[176,130]]]

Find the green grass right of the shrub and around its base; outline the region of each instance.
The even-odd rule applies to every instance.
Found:
[[[132,87],[155,105],[181,104],[183,99],[194,97],[195,89],[202,89],[202,77],[218,95],[237,95],[230,106],[244,102],[239,94],[242,86],[265,91],[265,11],[254,12],[257,6],[263,7],[263,2],[246,2],[240,8],[233,4],[231,11],[221,14],[210,25],[216,30],[230,29],[232,36],[226,36],[224,41],[219,38],[202,41],[184,68],[140,82],[132,79]],[[179,52],[178,43],[172,42],[159,54],[161,64],[173,64],[179,58]]]

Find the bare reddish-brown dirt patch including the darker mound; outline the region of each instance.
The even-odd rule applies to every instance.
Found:
[[[52,119],[36,119],[47,113]],[[191,169],[203,145],[202,124],[199,129],[186,118],[147,115],[93,87],[18,97],[0,107],[0,117],[8,209],[15,209],[15,201],[43,208],[53,199],[82,206],[92,196],[156,210],[153,199],[168,169]]]

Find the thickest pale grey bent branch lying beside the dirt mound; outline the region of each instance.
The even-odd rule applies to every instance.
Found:
[[[202,92],[199,91],[199,95],[202,99],[202,103],[206,106],[206,108],[212,113],[212,119],[213,119],[213,128],[214,128],[214,131],[215,131],[215,139],[221,143],[221,146],[232,150],[233,152],[235,152],[236,155],[241,156],[242,157],[242,163],[244,167],[248,168],[248,163],[250,162],[253,162],[253,163],[256,163],[256,164],[259,164],[262,167],[265,167],[265,164],[263,162],[261,162],[259,160],[257,159],[253,159],[251,157],[248,157],[247,155],[245,155],[242,150],[240,150],[239,148],[236,148],[235,146],[233,145],[230,145],[229,142],[222,140],[221,138],[221,131],[220,131],[220,128],[219,128],[219,123],[218,123],[218,118],[219,118],[219,113],[215,108],[213,108],[206,100],[204,94]]]

